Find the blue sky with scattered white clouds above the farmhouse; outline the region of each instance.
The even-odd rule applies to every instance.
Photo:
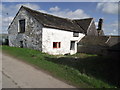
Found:
[[[117,2],[2,2],[0,17],[2,23],[0,33],[7,29],[21,5],[40,12],[70,19],[94,18],[96,28],[99,18],[103,18],[105,35],[118,35],[118,3]]]

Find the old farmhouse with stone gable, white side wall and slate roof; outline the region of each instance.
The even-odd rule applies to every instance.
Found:
[[[67,19],[21,6],[8,28],[9,46],[32,48],[49,54],[75,54],[84,36],[101,36],[93,18]]]

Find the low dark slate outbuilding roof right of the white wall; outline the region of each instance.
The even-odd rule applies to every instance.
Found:
[[[120,36],[85,36],[78,45],[113,47],[120,43]]]

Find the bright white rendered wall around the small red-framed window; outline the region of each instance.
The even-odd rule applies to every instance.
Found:
[[[85,35],[79,33],[79,37],[73,37],[73,32],[58,29],[42,29],[42,51],[49,54],[75,54],[77,52],[77,42]],[[70,50],[70,42],[76,41],[75,50]],[[61,42],[61,48],[53,48],[53,42]]]

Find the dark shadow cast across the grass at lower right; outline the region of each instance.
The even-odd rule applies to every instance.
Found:
[[[59,58],[46,57],[46,60],[67,65],[88,76],[120,87],[119,59],[116,57],[92,56],[87,58],[74,58],[68,56]]]

